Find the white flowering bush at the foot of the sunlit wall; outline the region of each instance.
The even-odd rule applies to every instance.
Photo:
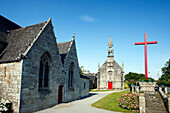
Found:
[[[0,99],[0,113],[3,112],[8,112],[8,113],[12,113],[12,103],[9,102],[9,100],[5,100],[5,99]]]

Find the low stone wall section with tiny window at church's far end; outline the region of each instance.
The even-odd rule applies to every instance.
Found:
[[[80,78],[81,83],[81,97],[89,95],[89,79]]]

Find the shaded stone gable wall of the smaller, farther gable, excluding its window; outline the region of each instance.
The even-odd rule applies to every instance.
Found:
[[[71,88],[68,87],[68,77],[69,77],[69,68],[70,64],[74,64],[74,72],[73,72],[73,86]],[[79,63],[77,58],[77,51],[75,40],[72,40],[72,44],[70,47],[69,52],[64,60],[64,71],[65,71],[65,102],[77,100],[80,98],[80,70],[79,70]]]

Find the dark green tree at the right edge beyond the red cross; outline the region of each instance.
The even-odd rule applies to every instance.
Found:
[[[159,78],[157,84],[170,86],[170,59],[165,63],[165,67],[162,67],[162,76]]]

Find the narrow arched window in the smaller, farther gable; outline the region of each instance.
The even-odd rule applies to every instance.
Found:
[[[73,86],[73,74],[74,74],[74,63],[72,62],[70,64],[70,68],[69,68],[69,78],[68,78],[68,86],[69,87]]]

